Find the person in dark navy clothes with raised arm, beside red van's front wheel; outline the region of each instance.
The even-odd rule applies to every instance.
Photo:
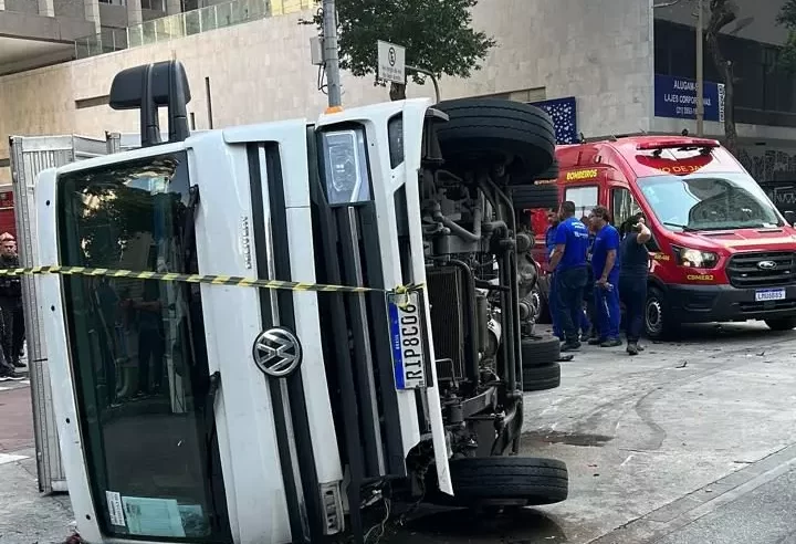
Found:
[[[638,345],[643,327],[647,303],[647,275],[649,274],[649,250],[645,245],[652,233],[647,228],[643,213],[636,213],[626,223],[621,241],[621,268],[619,271],[619,297],[625,304],[627,353],[638,355]]]

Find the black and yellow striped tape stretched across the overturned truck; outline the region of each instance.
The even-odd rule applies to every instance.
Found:
[[[105,278],[128,278],[130,280],[160,280],[179,283],[206,283],[210,285],[231,285],[237,287],[279,289],[286,291],[316,291],[326,293],[386,293],[387,290],[374,287],[353,287],[346,285],[327,285],[323,283],[283,282],[275,280],[256,280],[235,275],[175,274],[171,272],[140,272],[134,270],[90,269],[85,266],[33,266],[29,269],[0,270],[0,276],[9,275],[86,275]],[[394,290],[397,294],[419,291],[421,284],[400,285]]]

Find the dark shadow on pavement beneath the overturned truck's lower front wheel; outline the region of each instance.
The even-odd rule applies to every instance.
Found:
[[[420,514],[389,538],[390,544],[542,544],[567,542],[548,514],[534,509],[481,516],[468,510]]]

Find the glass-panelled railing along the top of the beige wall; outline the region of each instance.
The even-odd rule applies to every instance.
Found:
[[[75,56],[86,59],[153,43],[200,34],[269,17],[296,13],[313,8],[315,0],[235,0],[208,6],[126,29],[105,29],[98,34],[75,40]]]

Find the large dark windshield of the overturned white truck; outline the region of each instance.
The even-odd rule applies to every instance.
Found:
[[[184,153],[59,178],[66,266],[191,273]],[[190,217],[190,216],[188,216]],[[190,254],[190,253],[189,253]],[[112,536],[224,542],[223,484],[196,286],[64,276],[80,430]]]

